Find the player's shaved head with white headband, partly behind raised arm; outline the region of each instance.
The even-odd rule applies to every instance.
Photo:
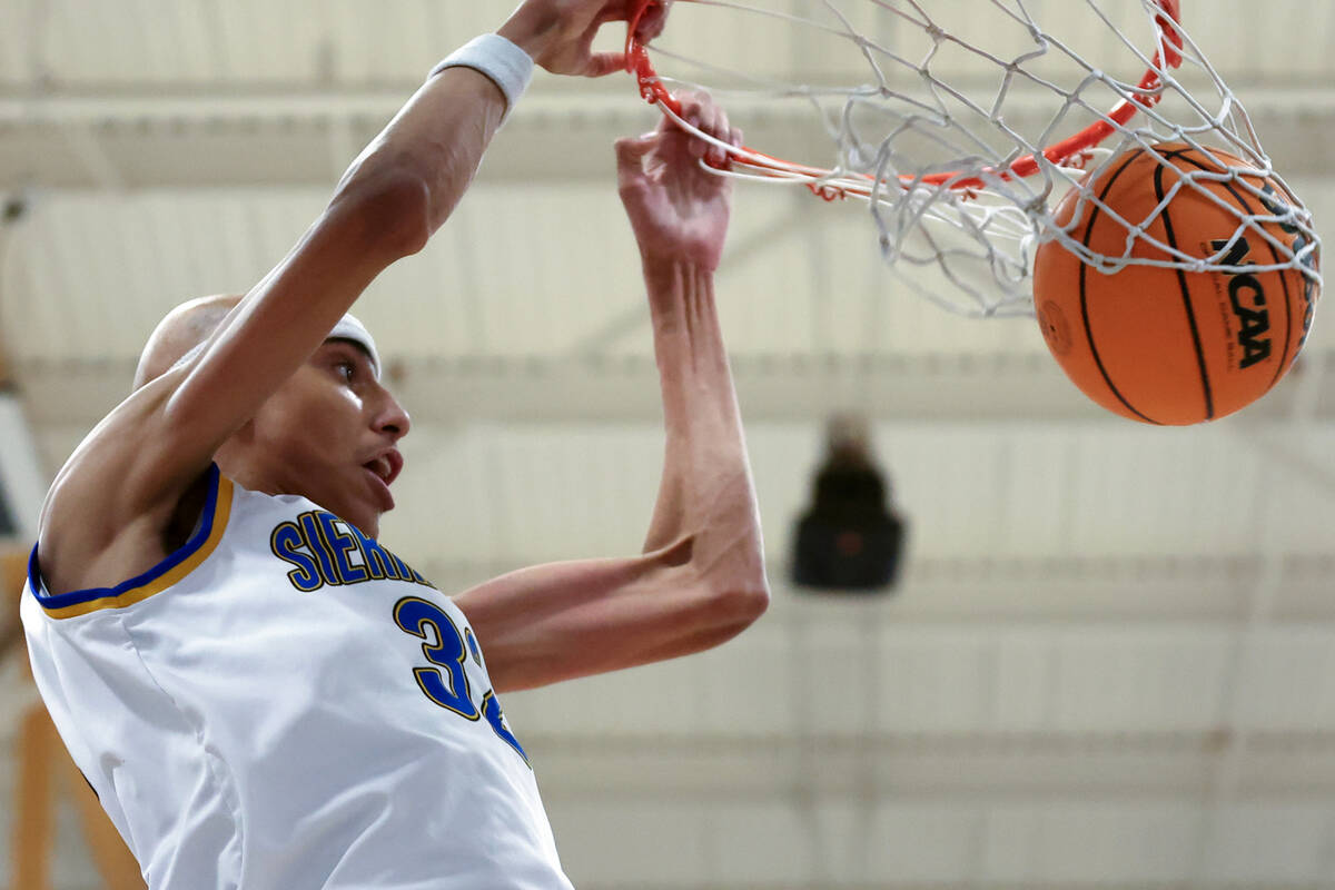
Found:
[[[144,347],[135,388],[202,348],[240,299],[206,296],[172,310]],[[380,383],[371,335],[344,316],[215,460],[247,488],[303,495],[374,536],[394,507],[388,483],[403,466],[394,446],[407,431],[409,415]]]

